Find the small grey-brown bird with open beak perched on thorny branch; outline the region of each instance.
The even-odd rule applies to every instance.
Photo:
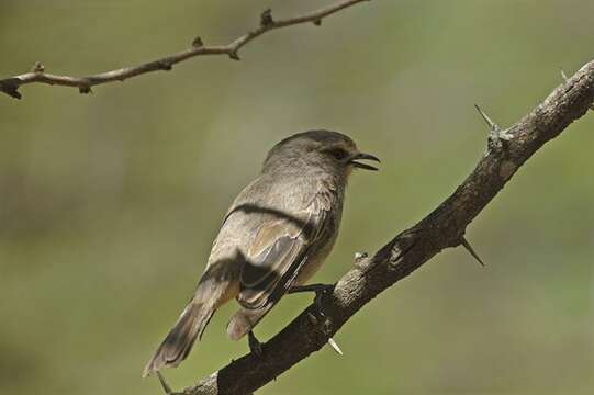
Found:
[[[354,168],[378,170],[360,159],[379,162],[337,132],[299,133],[272,147],[225,215],[192,298],[143,375],[183,361],[214,312],[233,298],[240,308],[229,338],[247,334],[250,350],[261,353],[251,331],[259,320],[284,294],[318,290],[303,284],[336,240],[347,179]]]

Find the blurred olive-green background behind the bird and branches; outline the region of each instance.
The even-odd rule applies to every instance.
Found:
[[[227,43],[328,1],[1,0],[0,76],[85,75]],[[594,57],[591,0],[377,0],[277,31],[242,61],[203,57],[77,90],[0,97],[0,393],[160,394],[141,371],[202,272],[235,194],[277,140],[341,131],[382,158],[351,180],[333,282],[472,170],[511,125]],[[469,227],[487,267],[446,250],[261,394],[591,394],[594,113],[528,161]],[[310,302],[259,326],[276,334]],[[235,306],[177,370],[190,385],[246,352]]]

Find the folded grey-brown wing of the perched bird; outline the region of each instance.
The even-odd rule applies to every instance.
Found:
[[[329,204],[316,199],[294,215],[268,216],[246,251],[237,301],[261,308],[278,300],[294,281],[320,239]]]

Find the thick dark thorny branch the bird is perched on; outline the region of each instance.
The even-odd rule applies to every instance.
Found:
[[[250,394],[320,350],[382,291],[442,249],[463,245],[467,226],[517,169],[545,143],[584,115],[593,102],[594,60],[512,127],[492,127],[487,149],[464,182],[429,215],[402,232],[372,258],[357,259],[355,267],[336,283],[334,292],[321,297],[320,307],[311,304],[262,345],[260,359],[244,356],[179,394]]]

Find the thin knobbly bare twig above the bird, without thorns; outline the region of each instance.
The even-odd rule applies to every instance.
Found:
[[[45,72],[45,67],[41,63],[36,63],[30,72],[0,80],[0,92],[4,92],[14,99],[21,99],[19,87],[27,83],[46,83],[51,86],[63,86],[78,88],[80,93],[91,93],[91,87],[114,82],[124,81],[128,78],[141,76],[147,72],[165,70],[169,71],[173,65],[188,60],[197,56],[205,55],[227,55],[229,58],[239,60],[238,52],[247,43],[256,37],[270,32],[272,30],[293,26],[302,23],[314,23],[321,25],[322,20],[357,3],[370,0],[344,0],[336,4],[315,10],[303,15],[288,18],[283,20],[272,19],[271,10],[266,10],[260,15],[260,24],[258,27],[249,31],[227,45],[204,45],[200,37],[195,37],[192,42],[192,47],[178,52],[177,54],[161,57],[159,59],[148,61],[142,65],[124,67],[116,70],[100,72],[86,77],[59,76]]]

